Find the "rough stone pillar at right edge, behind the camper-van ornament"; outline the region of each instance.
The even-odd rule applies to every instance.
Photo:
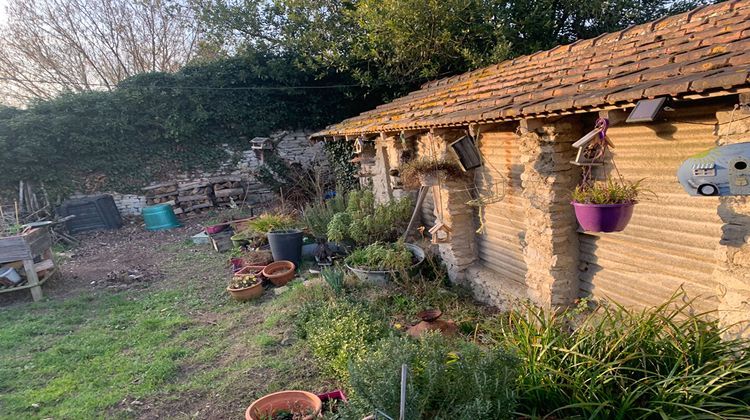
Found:
[[[716,113],[719,145],[750,141],[746,113]],[[730,122],[731,121],[731,122]],[[719,217],[725,223],[716,250],[714,277],[719,283],[719,319],[729,337],[750,338],[750,197],[721,197]]]

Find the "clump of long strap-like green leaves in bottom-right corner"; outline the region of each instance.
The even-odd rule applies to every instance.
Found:
[[[748,342],[724,341],[677,299],[655,309],[604,306],[570,316],[514,312],[496,338],[521,358],[523,416],[739,418],[750,414]]]

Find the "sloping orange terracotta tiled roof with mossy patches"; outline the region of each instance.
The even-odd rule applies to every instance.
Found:
[[[547,115],[750,86],[750,0],[701,7],[424,83],[314,136]]]

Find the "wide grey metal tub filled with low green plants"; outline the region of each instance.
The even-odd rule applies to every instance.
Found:
[[[360,280],[385,283],[395,273],[416,267],[424,258],[424,250],[414,244],[375,242],[355,250],[344,262]]]

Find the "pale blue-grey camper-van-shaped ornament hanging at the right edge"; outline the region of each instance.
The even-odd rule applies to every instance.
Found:
[[[690,195],[750,195],[750,142],[691,156],[680,165],[677,178]]]

